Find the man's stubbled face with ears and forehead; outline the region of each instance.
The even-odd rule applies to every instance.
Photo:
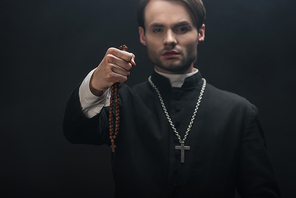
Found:
[[[205,26],[197,30],[189,13],[176,1],[151,0],[146,6],[145,31],[139,27],[140,41],[147,46],[156,70],[169,74],[192,72]]]

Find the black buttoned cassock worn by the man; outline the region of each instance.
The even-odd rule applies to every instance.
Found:
[[[171,119],[183,138],[202,87],[202,77],[188,77],[181,88],[153,73]],[[144,82],[121,85],[120,133],[116,138],[118,167],[115,197],[280,197],[266,152],[257,108],[246,99],[209,84],[185,141],[180,143],[163,112],[155,90]],[[110,145],[109,108],[91,119],[81,112],[78,88],[70,97],[64,134],[71,143]]]

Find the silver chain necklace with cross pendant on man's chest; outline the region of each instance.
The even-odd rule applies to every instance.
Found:
[[[178,140],[179,140],[179,143],[181,144],[181,146],[175,146],[175,149],[181,150],[181,163],[184,163],[184,162],[185,162],[184,150],[190,150],[190,146],[184,146],[184,143],[185,143],[185,140],[187,139],[187,136],[188,136],[188,134],[189,134],[189,132],[190,132],[190,130],[191,130],[191,128],[192,128],[192,125],[193,125],[194,119],[195,119],[195,117],[196,117],[196,113],[197,113],[197,111],[198,111],[199,105],[200,105],[201,100],[202,100],[202,96],[203,96],[204,91],[205,91],[205,88],[206,88],[206,80],[205,80],[204,78],[203,78],[202,80],[203,80],[203,85],[202,85],[202,88],[201,88],[201,90],[200,90],[200,94],[199,94],[199,97],[198,97],[198,100],[197,100],[197,103],[196,103],[196,106],[195,106],[195,109],[194,109],[194,112],[193,112],[192,118],[191,118],[190,123],[189,123],[189,125],[188,125],[188,128],[187,128],[187,130],[186,130],[186,133],[185,133],[185,135],[184,135],[184,138],[181,139],[181,136],[180,136],[179,132],[177,131],[177,129],[175,128],[175,125],[173,124],[172,119],[171,119],[171,117],[170,117],[170,115],[169,115],[169,113],[168,113],[168,111],[167,111],[167,109],[166,109],[166,107],[165,107],[165,105],[164,105],[163,99],[162,99],[162,97],[161,97],[161,94],[160,94],[158,88],[157,88],[157,87],[155,86],[155,84],[152,82],[152,80],[151,80],[151,76],[149,76],[149,78],[148,78],[149,83],[150,83],[151,86],[155,89],[155,91],[156,91],[156,93],[157,93],[157,96],[158,96],[158,98],[159,98],[160,104],[161,104],[161,106],[162,106],[162,109],[163,109],[163,111],[164,111],[164,114],[165,114],[166,117],[167,117],[167,120],[168,120],[169,124],[171,125],[171,127],[172,127],[174,133],[176,134],[176,136],[177,136],[177,138],[178,138]]]

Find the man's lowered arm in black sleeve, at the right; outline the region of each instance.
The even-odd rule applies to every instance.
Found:
[[[257,117],[257,108],[251,106],[239,154],[236,187],[243,198],[279,198],[279,187],[266,151],[266,142]]]

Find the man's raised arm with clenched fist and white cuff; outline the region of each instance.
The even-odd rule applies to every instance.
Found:
[[[99,66],[90,72],[80,88],[74,90],[67,103],[63,122],[64,135],[69,142],[109,142],[108,111],[103,108],[107,102],[106,90],[116,82],[124,83],[127,80],[133,59],[131,53],[109,48]]]

